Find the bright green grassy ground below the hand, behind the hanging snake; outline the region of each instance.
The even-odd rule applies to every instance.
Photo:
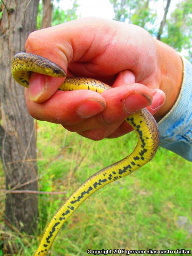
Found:
[[[38,237],[11,234],[12,241],[21,245],[17,254],[21,256],[33,254],[54,212],[85,179],[127,156],[136,145],[133,133],[94,142],[45,122],[38,122],[37,132],[39,190],[66,193],[39,196]],[[125,250],[125,254],[107,255],[126,255],[126,250],[191,250],[190,170],[188,161],[159,148],[146,166],[88,198],[60,230],[49,255],[92,255],[88,249]],[[3,205],[2,199],[1,209]]]

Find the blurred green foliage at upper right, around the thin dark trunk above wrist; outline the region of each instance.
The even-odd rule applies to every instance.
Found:
[[[152,2],[154,3],[154,0],[110,0],[115,12],[114,20],[138,25],[145,28],[152,36],[157,36],[159,27],[154,23],[158,10],[150,7]],[[170,18],[166,20],[161,37],[161,41],[175,50],[179,52],[187,50],[185,53],[189,60],[192,60],[191,14],[191,0],[183,0],[176,4],[175,9],[169,15]]]

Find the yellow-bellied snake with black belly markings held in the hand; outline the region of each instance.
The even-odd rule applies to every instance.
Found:
[[[56,63],[41,56],[20,52],[12,58],[12,77],[28,88],[31,72],[46,76],[66,77],[65,71]],[[59,90],[92,90],[102,93],[112,90],[107,84],[92,78],[66,77]],[[147,108],[135,112],[125,119],[136,132],[138,142],[133,152],[122,160],[111,164],[84,181],[55,213],[48,224],[34,256],[47,255],[62,225],[75,210],[94,192],[105,185],[127,176],[148,163],[156,154],[159,132],[156,120]]]

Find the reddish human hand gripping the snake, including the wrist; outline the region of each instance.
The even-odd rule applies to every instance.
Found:
[[[26,102],[33,117],[93,140],[129,132],[125,117],[151,102],[148,110],[161,119],[180,91],[179,55],[138,26],[98,18],[74,20],[31,33],[26,51],[56,62],[68,76],[92,77],[113,87],[102,94],[62,92],[57,89],[64,78],[30,78]]]

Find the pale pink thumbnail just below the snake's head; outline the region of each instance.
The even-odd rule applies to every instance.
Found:
[[[45,76],[33,73],[29,83],[29,99],[32,101],[38,100],[45,90]]]

